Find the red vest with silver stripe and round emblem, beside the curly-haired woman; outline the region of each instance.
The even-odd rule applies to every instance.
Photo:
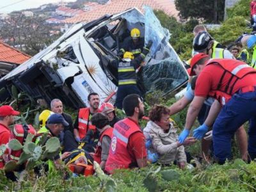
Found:
[[[105,166],[106,172],[113,173],[115,169],[129,168],[131,163],[136,162],[136,159],[131,157],[127,150],[129,137],[134,132],[141,132],[141,129],[138,124],[129,118],[120,120],[115,124],[109,147],[108,160]]]

